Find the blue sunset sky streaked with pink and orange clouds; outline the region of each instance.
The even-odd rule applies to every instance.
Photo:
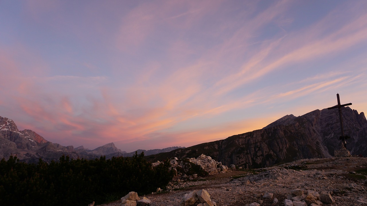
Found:
[[[367,111],[367,1],[0,0],[0,116],[89,149]]]

